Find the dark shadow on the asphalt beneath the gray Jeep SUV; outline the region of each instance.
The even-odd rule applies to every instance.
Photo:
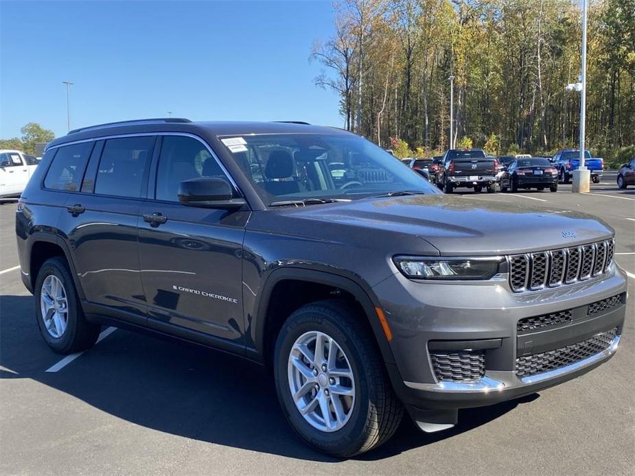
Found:
[[[32,296],[0,296],[0,313],[2,379],[33,379],[135,425],[185,438],[303,460],[338,461],[297,438],[279,409],[273,379],[256,364],[118,330],[69,366],[47,373],[62,356],[40,337]],[[459,425],[440,433],[421,433],[406,417],[391,441],[359,458],[378,460],[452,438],[537,397],[463,410]]]

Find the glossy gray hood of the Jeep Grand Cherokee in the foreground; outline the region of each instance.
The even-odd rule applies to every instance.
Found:
[[[416,236],[446,255],[549,250],[613,234],[610,226],[584,213],[437,194],[287,211],[295,218]]]

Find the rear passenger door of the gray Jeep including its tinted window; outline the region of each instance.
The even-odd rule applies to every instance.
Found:
[[[146,323],[137,225],[155,141],[154,135],[97,141],[82,188],[69,193],[60,217],[89,301],[85,309],[135,324]]]

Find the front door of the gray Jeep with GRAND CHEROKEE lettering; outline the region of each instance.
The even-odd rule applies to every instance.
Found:
[[[192,340],[215,337],[221,347],[242,346],[241,260],[249,211],[178,202],[183,180],[228,179],[209,147],[192,136],[163,136],[158,164],[153,164],[150,175],[156,180],[150,182],[139,218],[148,324],[170,333],[180,331]]]

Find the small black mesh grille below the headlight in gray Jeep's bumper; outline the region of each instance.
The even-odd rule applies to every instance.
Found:
[[[478,350],[430,352],[432,369],[438,381],[470,382],[485,375],[485,354]]]

